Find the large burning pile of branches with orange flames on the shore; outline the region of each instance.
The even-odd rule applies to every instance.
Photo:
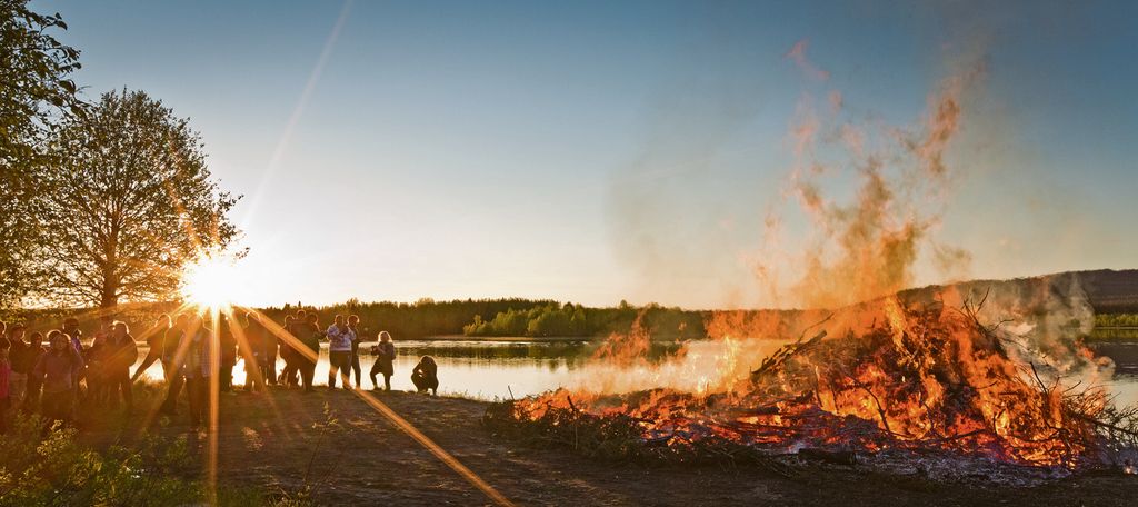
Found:
[[[880,316],[864,333],[790,343],[723,392],[558,391],[486,422],[593,456],[682,460],[908,450],[1073,471],[1120,464],[1138,445],[1136,409],[1015,360],[1012,336],[974,309],[890,299]]]

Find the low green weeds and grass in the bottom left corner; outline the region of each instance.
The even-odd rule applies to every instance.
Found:
[[[141,411],[85,410],[76,425],[49,427],[36,415],[9,415],[0,436],[0,506],[311,505],[304,489],[228,483],[211,489],[201,449],[192,441],[199,435],[171,432],[167,426],[180,420],[159,419],[147,431],[132,426],[162,401],[164,390],[137,384]]]

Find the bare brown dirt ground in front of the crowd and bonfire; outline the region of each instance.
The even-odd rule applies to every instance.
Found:
[[[752,466],[646,467],[599,463],[561,449],[533,449],[493,438],[479,401],[378,393],[377,398],[518,505],[1132,505],[1138,477],[1087,476],[1034,489],[981,489],[880,477],[855,469],[786,479]],[[139,407],[150,401],[143,401]],[[324,407],[338,428],[322,430]],[[321,505],[485,505],[489,500],[355,394],[223,394],[218,477],[229,484],[296,491],[308,484]],[[184,422],[151,431],[189,435],[204,452],[205,433]],[[138,434],[91,427],[105,443]]]

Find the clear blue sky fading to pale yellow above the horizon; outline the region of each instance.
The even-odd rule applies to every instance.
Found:
[[[971,253],[956,275],[1138,267],[1138,2],[988,3],[32,6],[69,25],[88,98],[191,118],[245,195],[249,304],[712,308],[770,304],[751,260],[803,103],[920,124],[964,60],[986,72],[931,231]],[[942,281],[926,253],[916,281]]]

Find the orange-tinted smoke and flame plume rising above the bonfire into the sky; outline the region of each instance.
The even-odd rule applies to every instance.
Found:
[[[816,75],[803,51],[800,42],[789,56]],[[756,265],[778,303],[839,308],[892,294],[913,285],[922,255],[942,273],[967,272],[968,254],[940,245],[934,232],[951,190],[948,149],[963,124],[963,101],[983,69],[972,64],[942,80],[913,126],[842,121],[846,100],[836,90],[824,111],[803,97],[790,131],[795,162],[784,205],[766,220]],[[836,189],[850,181],[857,191],[842,198]],[[809,224],[800,245],[785,245],[782,235],[787,206]]]

